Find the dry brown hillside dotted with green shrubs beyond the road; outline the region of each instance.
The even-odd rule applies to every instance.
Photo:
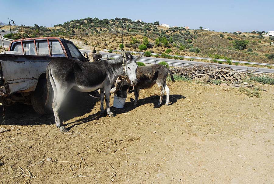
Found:
[[[146,49],[145,47],[143,49],[152,53],[161,54],[166,51],[173,55],[231,58],[231,60],[251,62],[269,62],[265,55],[274,52],[274,46],[270,45],[273,37],[250,33],[239,35],[206,30],[185,30],[183,27],[166,28],[160,27],[158,22],[140,23],[127,18],[100,20],[88,17],[70,20],[48,28],[35,24],[34,27],[20,27],[19,33],[13,37],[19,39],[57,36],[78,40],[79,48],[95,47],[97,50],[115,50],[120,49],[122,21],[126,25],[123,30],[125,50],[140,51],[139,45],[145,44]]]

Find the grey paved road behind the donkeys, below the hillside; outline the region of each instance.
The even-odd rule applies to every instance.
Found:
[[[89,50],[82,50],[81,52],[89,52]],[[108,55],[108,58],[111,57],[121,57],[121,54],[114,54],[114,53],[109,53],[109,52],[103,52],[100,51],[100,53],[104,56]],[[164,58],[154,58],[154,57],[142,57],[141,61],[144,63],[150,63],[150,64],[156,64],[159,63],[160,61],[166,61],[169,63],[170,66],[183,66],[183,65],[193,65],[193,64],[210,64],[207,62],[198,62],[198,61],[187,61],[187,60],[176,60],[176,59],[164,59]],[[155,62],[156,61],[156,62]],[[268,68],[258,68],[258,67],[251,67],[251,66],[236,66],[236,65],[226,65],[226,64],[217,64],[216,65],[220,66],[227,66],[231,67],[234,70],[238,71],[247,71],[247,70],[254,70],[257,68],[256,73],[258,72],[264,72],[264,73],[274,73],[274,69],[268,69]]]

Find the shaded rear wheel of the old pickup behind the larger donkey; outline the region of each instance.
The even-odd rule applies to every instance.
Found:
[[[31,105],[38,114],[50,114],[52,108],[45,105],[47,99],[47,80],[40,79],[37,83],[35,91],[30,95]]]

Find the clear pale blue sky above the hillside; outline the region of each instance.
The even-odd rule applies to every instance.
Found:
[[[53,1],[1,0],[0,22],[50,27],[73,19],[126,17],[170,26],[216,31],[274,30],[274,0],[237,1]]]

